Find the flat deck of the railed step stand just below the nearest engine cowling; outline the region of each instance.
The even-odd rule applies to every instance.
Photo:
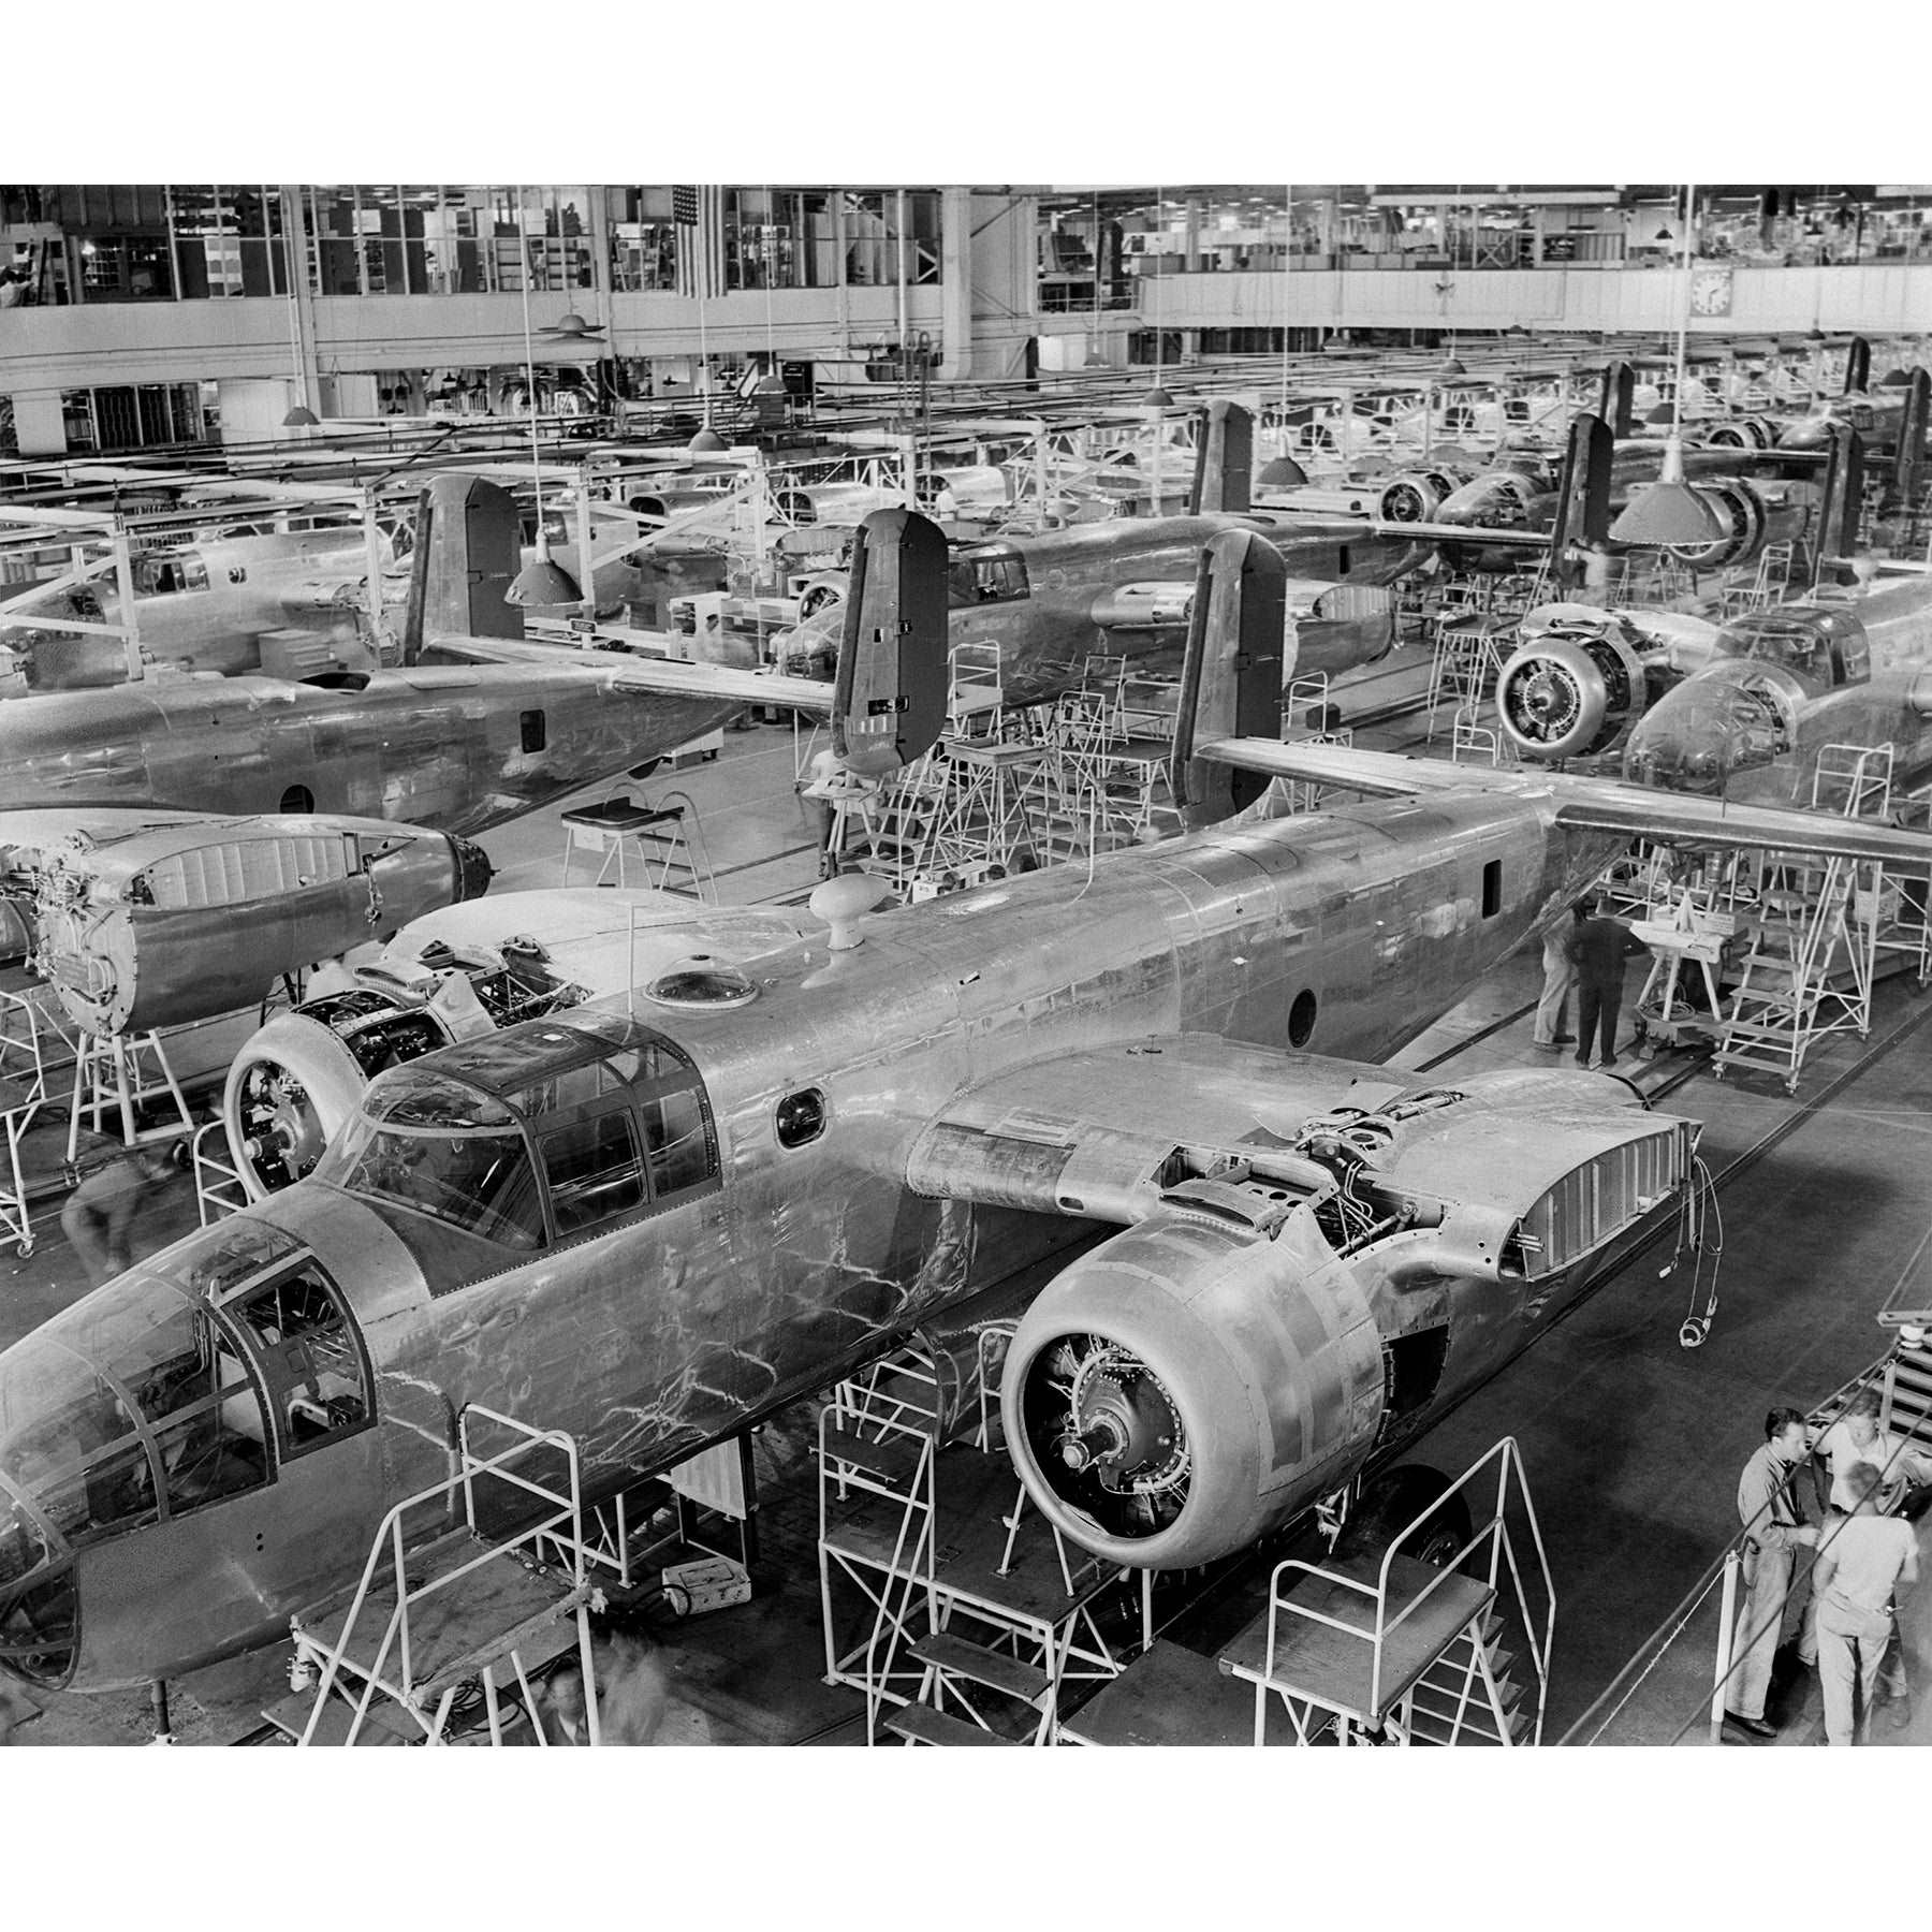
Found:
[[[1275,1619],[1275,1667],[1267,1669],[1267,1609],[1221,1652],[1221,1669],[1250,1685],[1267,1685],[1291,1698],[1320,1704],[1358,1723],[1374,1725],[1401,1702],[1428,1667],[1495,1602],[1488,1582],[1430,1569],[1414,1557],[1389,1563],[1389,1600],[1383,1619],[1381,1689],[1374,1694],[1376,1578],[1381,1551],[1331,1561],[1323,1571],[1296,1580]],[[1366,1584],[1349,1588],[1339,1578]],[[1428,1602],[1410,1611],[1430,1584]],[[1314,1615],[1333,1619],[1318,1623]],[[1406,1617],[1405,1611],[1410,1611]],[[1397,1623],[1397,1619],[1403,1619]],[[1337,1629],[1335,1625],[1345,1625]]]

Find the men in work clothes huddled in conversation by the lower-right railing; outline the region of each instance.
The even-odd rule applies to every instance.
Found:
[[[1743,1592],[1723,1698],[1723,1729],[1735,1741],[1777,1735],[1766,1702],[1779,1662],[1789,1673],[1818,1673],[1828,1745],[1868,1737],[1878,1702],[1893,1727],[1911,1723],[1899,1611],[1918,1580],[1915,1519],[1932,1503],[1932,1455],[1886,1430],[1880,1410],[1878,1391],[1862,1387],[1816,1435],[1795,1408],[1764,1418],[1764,1443],[1737,1486]],[[1793,1493],[1806,1461],[1824,1490],[1818,1522]],[[1810,1569],[1801,1578],[1803,1551]],[[1797,1636],[1787,1642],[1793,1613]]]

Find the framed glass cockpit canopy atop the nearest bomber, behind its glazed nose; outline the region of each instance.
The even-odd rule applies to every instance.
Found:
[[[719,1184],[690,1059],[634,1020],[529,1020],[392,1068],[315,1179],[498,1248],[605,1233]],[[468,1279],[431,1265],[431,1293]]]

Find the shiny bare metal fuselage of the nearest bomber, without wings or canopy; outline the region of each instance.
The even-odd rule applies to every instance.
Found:
[[[1103,858],[1070,896],[1063,875],[1010,879],[879,916],[856,951],[808,941],[748,960],[759,993],[736,1010],[639,997],[638,1018],[701,1076],[719,1153],[717,1184],[661,1211],[527,1254],[305,1180],[187,1236],[0,1356],[0,1414],[31,1412],[35,1350],[71,1339],[102,1296],[141,1283],[166,1298],[147,1271],[207,1279],[267,1225],[307,1244],[344,1291],[375,1364],[377,1420],[261,1488],[83,1542],[73,1683],[141,1681],[272,1638],[292,1609],[357,1575],[386,1507],[442,1480],[466,1405],[574,1432],[593,1486],[611,1484],[1092,1236],[1080,1219],[910,1190],[910,1148],[962,1084],[1180,1032],[1287,1045],[1304,993],[1310,1051],[1379,1057],[1604,854],[1604,838],[1559,833],[1546,802],[1447,796]],[[1349,1074],[1289,1063],[1283,1105],[1345,1099]],[[779,1103],[804,1090],[823,1095],[825,1128],[781,1146]],[[1443,1283],[1455,1341],[1435,1403],[1493,1372],[1577,1285],[1565,1277],[1532,1306],[1520,1283]],[[4,1457],[0,1472],[21,1480]]]

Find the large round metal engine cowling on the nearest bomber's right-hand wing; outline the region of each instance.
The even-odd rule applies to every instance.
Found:
[[[1111,1563],[1246,1548],[1347,1482],[1381,1426],[1381,1335],[1349,1264],[1265,1194],[1196,1186],[1202,1206],[1169,1196],[1049,1283],[1007,1354],[1020,1480]]]

